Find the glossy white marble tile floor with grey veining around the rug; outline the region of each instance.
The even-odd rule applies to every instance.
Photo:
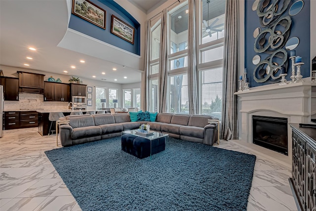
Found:
[[[257,156],[247,211],[297,211],[288,182],[290,165],[263,156],[239,140],[214,146]],[[1,211],[81,210],[44,154],[58,147],[55,135],[40,136],[37,128],[4,131],[0,139]]]

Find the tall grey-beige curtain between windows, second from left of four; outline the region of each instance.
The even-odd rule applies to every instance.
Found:
[[[159,113],[166,112],[167,108],[167,84],[168,84],[168,25],[167,8],[162,10],[159,54]]]

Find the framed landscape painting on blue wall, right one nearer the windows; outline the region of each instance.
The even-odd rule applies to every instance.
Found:
[[[135,29],[124,21],[120,20],[115,15],[112,15],[111,19],[111,33],[127,42],[134,44]]]

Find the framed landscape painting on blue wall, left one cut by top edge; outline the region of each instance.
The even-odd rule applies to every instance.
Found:
[[[106,11],[89,0],[73,0],[72,14],[105,29]]]

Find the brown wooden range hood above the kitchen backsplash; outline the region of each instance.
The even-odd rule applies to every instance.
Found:
[[[36,93],[44,92],[44,76],[38,73],[28,73],[17,71],[19,74],[19,92],[20,93]]]

